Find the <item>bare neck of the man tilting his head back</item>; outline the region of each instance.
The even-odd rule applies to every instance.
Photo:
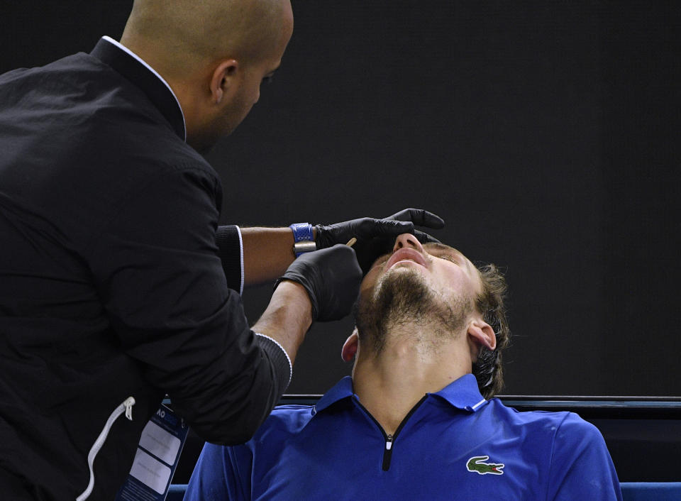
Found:
[[[465,333],[438,338],[419,327],[401,330],[387,336],[379,356],[360,349],[353,370],[355,393],[387,434],[394,434],[423,395],[471,372]]]

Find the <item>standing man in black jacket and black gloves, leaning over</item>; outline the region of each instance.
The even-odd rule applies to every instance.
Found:
[[[197,151],[248,114],[291,33],[289,0],[135,0],[121,43],[0,76],[3,497],[111,498],[166,393],[204,439],[247,440],[311,323],[349,312],[358,260],[441,226],[408,209],[218,227]],[[244,283],[279,276],[249,328]]]

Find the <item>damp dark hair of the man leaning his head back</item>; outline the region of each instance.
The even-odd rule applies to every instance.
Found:
[[[506,279],[496,265],[476,265],[480,272],[482,292],[475,297],[475,308],[482,314],[487,324],[494,329],[497,337],[497,348],[489,350],[482,346],[477,362],[472,365],[472,373],[477,379],[477,386],[483,397],[489,399],[502,390],[504,371],[502,369],[502,351],[509,346],[511,330],[506,319]]]

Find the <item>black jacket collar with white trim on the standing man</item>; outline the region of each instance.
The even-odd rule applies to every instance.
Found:
[[[168,82],[153,67],[150,67],[133,51],[108,36],[99,39],[90,55],[109,65],[139,87],[165,116],[177,136],[182,141],[187,141],[187,128],[179,100]]]

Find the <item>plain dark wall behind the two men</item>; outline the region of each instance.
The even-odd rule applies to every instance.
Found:
[[[0,71],[119,38],[131,1],[0,7]],[[275,81],[209,161],[222,222],[287,226],[423,207],[502,265],[504,393],[681,395],[681,4],[294,0]],[[244,294],[255,321],[270,287]],[[316,324],[291,393],[351,366]]]

